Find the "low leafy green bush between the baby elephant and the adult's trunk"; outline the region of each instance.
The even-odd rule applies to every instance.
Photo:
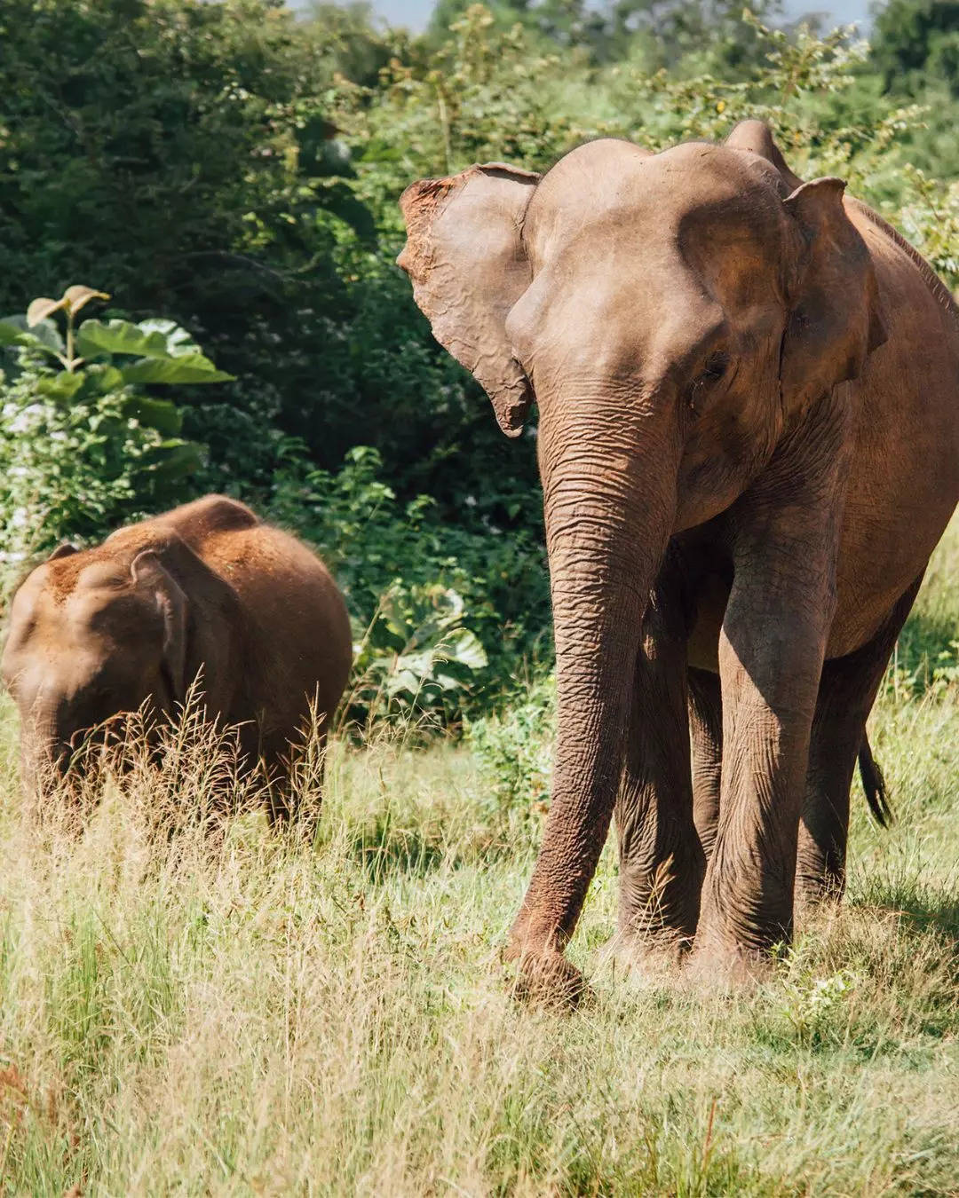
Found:
[[[448,727],[509,685],[524,659],[548,661],[549,586],[538,539],[489,522],[450,525],[429,496],[402,501],[378,450],[360,446],[332,474],[302,446],[283,450],[270,514],[336,574],[354,622],[351,716]]]

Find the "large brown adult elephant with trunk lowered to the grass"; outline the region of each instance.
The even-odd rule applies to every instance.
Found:
[[[531,985],[579,985],[614,806],[622,931],[694,938],[710,972],[789,939],[797,873],[842,887],[865,716],[959,496],[957,308],[843,193],[748,121],[403,195],[434,334],[507,436],[539,405],[559,727],[512,931]]]

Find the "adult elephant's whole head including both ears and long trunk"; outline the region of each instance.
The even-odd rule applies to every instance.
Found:
[[[885,339],[843,189],[802,183],[750,121],[723,146],[598,140],[542,177],[493,163],[403,195],[399,265],[438,340],[508,435],[539,411],[559,734],[520,949],[561,948],[579,914],[670,536],[729,508]]]

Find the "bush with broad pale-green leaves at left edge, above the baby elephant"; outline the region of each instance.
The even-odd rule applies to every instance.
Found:
[[[91,288],[35,300],[26,316],[0,320],[0,574],[65,538],[91,539],[182,496],[200,447],[180,436],[182,417],[158,383],[219,382],[186,329],[173,321],[85,320]],[[62,314],[61,333],[55,316]]]

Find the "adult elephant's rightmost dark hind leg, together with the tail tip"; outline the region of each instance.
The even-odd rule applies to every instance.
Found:
[[[887,822],[885,782],[865,737],[865,720],[921,582],[922,576],[899,599],[871,641],[824,664],[800,825],[800,903],[839,897],[845,889],[849,792],[857,760],[873,815],[880,824]]]

